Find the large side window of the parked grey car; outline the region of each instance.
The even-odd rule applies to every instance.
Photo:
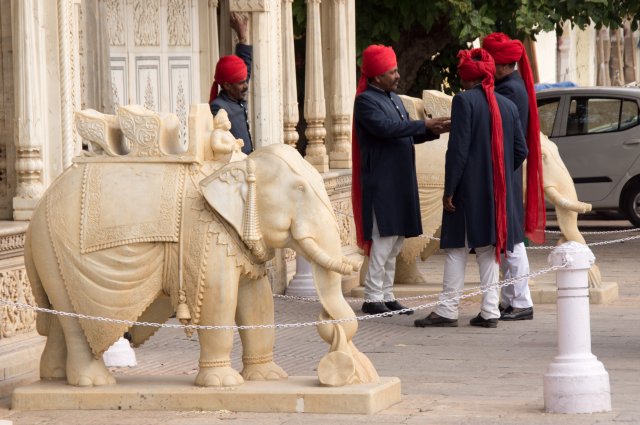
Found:
[[[625,99],[572,97],[567,136],[626,130],[638,124],[638,105]]]

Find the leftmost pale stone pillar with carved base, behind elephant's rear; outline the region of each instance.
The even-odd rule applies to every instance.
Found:
[[[16,196],[14,220],[28,220],[44,191],[43,141],[46,140],[43,67],[39,58],[36,0],[11,2],[14,27],[13,76],[15,82]]]

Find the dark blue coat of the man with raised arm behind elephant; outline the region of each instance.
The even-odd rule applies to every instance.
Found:
[[[244,63],[247,64],[247,81],[251,77],[251,57],[253,53],[253,47],[246,44],[236,45],[236,55],[242,58]],[[242,152],[247,155],[253,152],[253,143],[251,142],[251,132],[249,131],[249,114],[247,112],[247,102],[237,101],[232,99],[221,90],[213,102],[209,105],[211,113],[215,116],[220,109],[227,111],[229,115],[229,121],[231,121],[231,134],[237,139],[244,140],[244,146]]]

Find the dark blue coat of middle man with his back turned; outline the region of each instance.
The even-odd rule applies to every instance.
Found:
[[[513,172],[527,156],[518,110],[496,94],[504,132],[507,191],[507,249],[522,223],[514,220]],[[491,162],[491,116],[480,85],[457,94],[451,105],[451,133],[445,163],[445,196],[453,195],[453,213],[444,211],[440,247],[470,248],[495,245],[495,206]],[[522,232],[522,229],[520,229]]]

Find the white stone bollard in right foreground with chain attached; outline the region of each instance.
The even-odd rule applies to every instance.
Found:
[[[577,242],[556,247],[549,264],[568,266],[556,272],[558,286],[558,355],[544,375],[544,408],[550,413],[611,410],[609,374],[591,353],[588,271],[591,250]]]

